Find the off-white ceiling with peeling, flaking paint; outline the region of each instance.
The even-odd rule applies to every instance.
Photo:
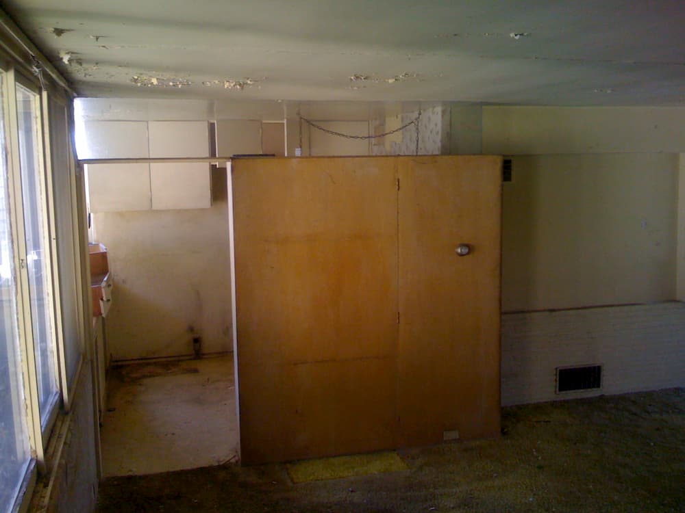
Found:
[[[685,105],[684,0],[3,5],[82,96]]]

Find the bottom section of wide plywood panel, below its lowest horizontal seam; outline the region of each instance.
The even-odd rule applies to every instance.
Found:
[[[239,365],[243,464],[396,447],[394,357]]]

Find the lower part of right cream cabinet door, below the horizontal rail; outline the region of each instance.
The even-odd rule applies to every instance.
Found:
[[[210,165],[151,163],[153,210],[208,209],[212,206]]]

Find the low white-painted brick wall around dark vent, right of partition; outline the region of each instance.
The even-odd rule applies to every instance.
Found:
[[[556,394],[556,367],[600,363],[599,391]],[[502,404],[685,386],[685,302],[502,318]]]

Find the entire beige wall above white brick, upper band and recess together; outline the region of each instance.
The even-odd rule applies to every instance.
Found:
[[[484,153],[514,155],[506,311],[677,298],[684,127],[685,109],[483,107]]]

